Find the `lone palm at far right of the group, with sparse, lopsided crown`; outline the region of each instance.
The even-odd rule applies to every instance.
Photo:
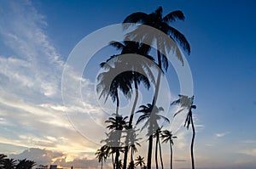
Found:
[[[193,104],[194,102],[194,96],[189,97],[185,95],[178,95],[179,99],[175,100],[172,102],[173,104],[179,104],[180,107],[182,108],[181,110],[178,110],[177,113],[174,115],[176,116],[183,110],[187,110],[188,114],[186,116],[186,120],[184,123],[184,127],[187,127],[189,130],[189,126],[191,124],[192,127],[192,139],[191,139],[191,145],[190,145],[190,153],[191,153],[191,164],[192,164],[192,169],[195,169],[195,161],[194,161],[194,141],[195,141],[195,126],[194,126],[194,121],[192,117],[192,109],[196,109],[196,106]]]

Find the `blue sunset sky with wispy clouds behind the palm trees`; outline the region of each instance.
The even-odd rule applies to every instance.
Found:
[[[118,52],[102,47],[84,65],[82,75],[75,69],[83,62],[76,60],[74,69],[67,69],[67,63],[84,37],[122,23],[133,12],[151,13],[162,6],[163,14],[177,9],[185,14],[184,21],[172,26],[183,32],[191,46],[191,54],[184,54],[193,77],[197,105],[193,112],[195,166],[255,168],[255,5],[253,0],[1,0],[0,153],[15,159],[32,159],[38,164],[99,168],[94,154],[106,132],[104,121],[115,104],[97,99],[96,75],[100,72],[99,64]],[[102,39],[110,38],[109,35]],[[99,41],[90,44],[96,46]],[[159,103],[171,111],[169,102],[177,99],[179,83],[172,66],[166,76],[160,93],[168,87],[172,92],[162,94]],[[141,87],[139,103],[152,98],[152,90]],[[126,112],[131,104],[124,101],[120,110]],[[173,165],[189,168],[191,131],[180,127],[182,120],[175,121],[169,116],[177,135]],[[144,135],[140,133],[143,138]],[[146,156],[144,139],[142,145],[139,151]],[[169,147],[164,144],[163,154],[169,167]]]

